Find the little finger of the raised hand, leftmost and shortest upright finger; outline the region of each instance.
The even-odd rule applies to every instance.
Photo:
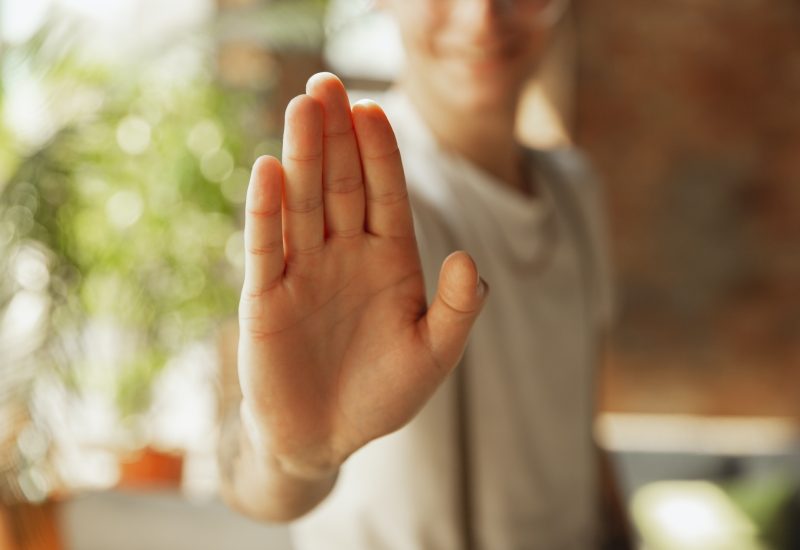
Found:
[[[283,169],[278,159],[256,160],[247,189],[244,222],[244,288],[253,296],[263,294],[283,277],[282,188]]]

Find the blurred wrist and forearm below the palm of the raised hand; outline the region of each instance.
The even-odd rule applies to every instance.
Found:
[[[238,406],[226,414],[221,429],[222,498],[245,515],[261,521],[292,521],[319,504],[336,482],[336,473],[314,479],[290,475],[267,453],[257,452]]]

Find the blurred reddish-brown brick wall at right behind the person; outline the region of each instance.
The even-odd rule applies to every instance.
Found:
[[[800,413],[800,4],[575,8],[622,299],[607,406]]]

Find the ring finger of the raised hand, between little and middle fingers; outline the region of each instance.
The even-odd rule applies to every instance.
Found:
[[[315,99],[300,95],[289,102],[283,133],[283,230],[289,263],[319,252],[325,242],[322,124],[322,106]]]

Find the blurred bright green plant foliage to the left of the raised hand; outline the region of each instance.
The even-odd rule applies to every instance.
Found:
[[[57,98],[38,135],[0,126],[0,382],[24,372],[28,403],[55,373],[107,405],[106,443],[140,449],[169,359],[235,311],[249,96],[223,92],[197,51],[90,66],[47,37],[0,58]]]

